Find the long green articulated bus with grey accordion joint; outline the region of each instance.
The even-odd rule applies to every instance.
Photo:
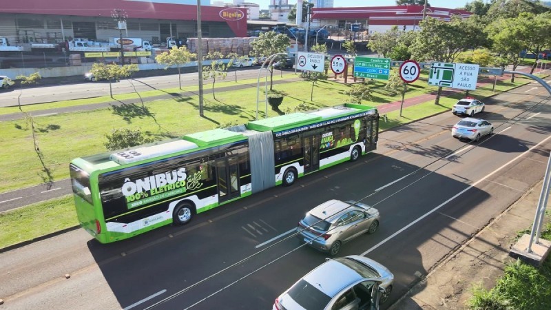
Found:
[[[107,243],[175,223],[377,147],[375,107],[346,103],[309,113],[76,158],[81,226]]]

